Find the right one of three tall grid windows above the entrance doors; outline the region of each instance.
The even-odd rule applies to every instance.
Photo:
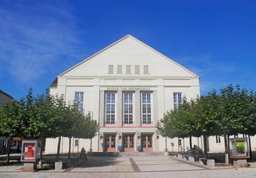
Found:
[[[142,93],[142,124],[151,124],[151,93]]]

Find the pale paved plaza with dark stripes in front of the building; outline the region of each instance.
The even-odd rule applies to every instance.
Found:
[[[0,177],[256,177],[256,168],[214,167],[175,159],[171,156],[89,157],[74,168],[62,171],[22,172],[22,165],[1,166]]]

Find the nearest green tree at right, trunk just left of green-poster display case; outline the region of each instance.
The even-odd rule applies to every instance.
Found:
[[[255,96],[239,85],[229,85],[220,90],[219,99],[217,125],[224,136],[226,164],[229,164],[229,136],[255,134]]]

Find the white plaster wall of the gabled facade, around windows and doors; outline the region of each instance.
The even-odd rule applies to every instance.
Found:
[[[114,65],[114,74],[108,74],[108,65]],[[122,65],[122,74],[117,74],[117,65]],[[131,65],[131,74],[125,73],[126,65]],[[140,74],[135,74],[135,65],[140,65]],[[144,65],[148,65],[148,74],[143,73]],[[105,50],[59,75],[57,88],[50,88],[50,93],[57,93],[59,96],[64,94],[67,102],[73,102],[75,92],[84,92],[85,113],[91,111],[93,119],[99,120],[99,110],[104,109],[99,108],[100,91],[106,90],[108,87],[129,86],[151,88],[154,94],[152,97],[154,125],[163,117],[163,113],[174,108],[173,93],[181,92],[188,99],[200,95],[199,76],[132,36],[126,36],[111,44]],[[136,105],[140,105],[140,103],[136,103]],[[165,138],[160,136],[157,139],[156,128],[100,128],[100,132],[154,133],[154,143],[157,144],[154,151],[164,151],[165,149]],[[167,142],[168,149],[171,150],[171,142],[175,144],[177,139],[168,139]],[[46,152],[55,152],[56,144],[57,139],[47,139]],[[81,139],[81,144],[86,150],[90,148],[89,140]],[[188,145],[188,139],[184,139],[183,147],[187,148]],[[93,138],[93,151],[97,151],[98,148],[102,149],[100,143],[98,145],[96,136]],[[174,150],[178,150],[177,144],[174,145]],[[63,139],[61,151],[68,151],[68,138]]]

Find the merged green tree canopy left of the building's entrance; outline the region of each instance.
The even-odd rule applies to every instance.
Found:
[[[39,139],[75,136],[91,139],[99,127],[91,113],[79,112],[76,103],[67,103],[63,96],[52,96],[48,90],[33,96],[28,90],[22,99],[0,108],[0,131],[5,136]]]

